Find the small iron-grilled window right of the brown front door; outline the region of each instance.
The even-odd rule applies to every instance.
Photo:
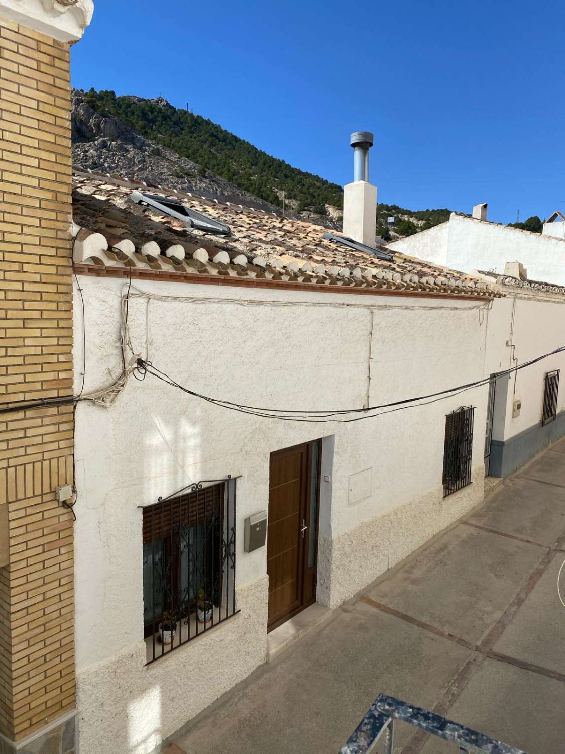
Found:
[[[461,406],[445,417],[444,498],[471,484],[473,406]]]

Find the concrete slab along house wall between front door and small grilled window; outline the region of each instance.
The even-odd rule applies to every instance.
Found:
[[[544,554],[536,545],[460,524],[368,595],[478,643]]]

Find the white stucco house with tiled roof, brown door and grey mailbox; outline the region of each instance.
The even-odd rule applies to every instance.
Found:
[[[231,236],[149,212],[134,190]],[[487,388],[311,423],[142,371],[122,387],[124,369],[139,355],[191,391],[307,416],[382,406],[483,379],[502,294],[316,225],[109,176],[75,177],[73,216],[81,754],[149,754],[264,662],[283,621],[340,605],[481,501]],[[109,384],[116,400],[100,406]],[[261,512],[266,546],[245,547]],[[206,602],[213,624],[198,623]]]

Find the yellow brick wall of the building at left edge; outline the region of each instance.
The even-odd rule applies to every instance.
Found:
[[[69,44],[0,20],[0,403],[72,394]],[[0,732],[75,706],[73,409],[0,415]]]

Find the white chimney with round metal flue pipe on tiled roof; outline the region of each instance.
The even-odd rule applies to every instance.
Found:
[[[344,235],[359,244],[374,246],[377,225],[377,186],[369,183],[369,149],[373,134],[356,131],[351,134],[353,183],[344,187]]]

